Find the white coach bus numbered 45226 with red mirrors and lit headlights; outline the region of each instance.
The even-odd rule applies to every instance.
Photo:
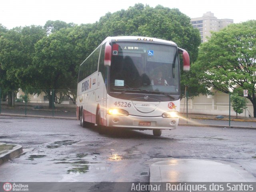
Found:
[[[76,116],[80,125],[153,130],[178,126],[180,62],[190,68],[186,50],[174,42],[148,37],[106,38],[80,65]]]

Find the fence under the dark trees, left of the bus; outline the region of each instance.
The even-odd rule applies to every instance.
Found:
[[[76,90],[0,89],[0,114],[76,117]]]

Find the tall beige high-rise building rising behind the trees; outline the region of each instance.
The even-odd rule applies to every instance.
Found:
[[[233,19],[217,19],[213,13],[206,12],[202,17],[191,18],[191,23],[194,28],[198,28],[201,34],[201,42],[206,42],[206,36],[210,37],[210,31],[217,32],[222,28],[234,23]]]

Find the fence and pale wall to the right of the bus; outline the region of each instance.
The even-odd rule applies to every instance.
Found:
[[[182,116],[180,122],[182,123],[256,127],[256,118],[253,118],[253,104],[247,98],[246,109],[242,113],[236,114],[232,107],[231,94],[215,92],[214,95],[196,97],[192,97],[188,93],[185,95],[186,97],[182,98],[180,102]],[[216,121],[216,119],[221,121]]]

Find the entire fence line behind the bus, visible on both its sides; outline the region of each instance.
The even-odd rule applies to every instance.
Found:
[[[44,90],[37,93],[38,90],[0,89],[0,114],[76,118],[76,90]],[[236,112],[230,103],[229,94],[216,92],[213,96],[197,97],[187,94],[180,101],[180,123],[256,127],[253,105],[249,100],[244,112],[238,114],[241,121],[236,120]],[[217,116],[222,121],[213,120]]]

